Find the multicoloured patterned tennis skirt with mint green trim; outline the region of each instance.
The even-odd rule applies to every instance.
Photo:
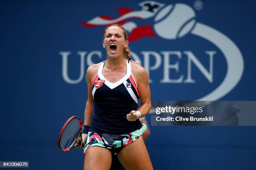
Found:
[[[88,133],[86,145],[84,147],[85,151],[92,146],[100,146],[104,148],[110,149],[111,152],[117,148],[123,148],[125,145],[128,145],[135,140],[137,140],[140,136],[144,135],[146,132],[147,126],[142,124],[142,127],[138,130],[135,130],[132,133],[124,134],[124,135],[110,135],[104,133]],[[120,150],[119,150],[120,151]],[[116,151],[114,151],[117,153]]]

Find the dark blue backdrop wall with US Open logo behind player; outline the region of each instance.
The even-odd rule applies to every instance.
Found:
[[[1,3],[1,161],[82,169],[82,150],[63,153],[56,143],[70,116],[84,117],[85,71],[106,55],[103,21],[118,19],[133,34],[129,46],[148,71],[151,100],[256,100],[254,1],[146,2],[159,6],[152,11],[143,1]],[[149,31],[140,37],[143,26]],[[254,126],[150,129],[157,170],[256,168]]]

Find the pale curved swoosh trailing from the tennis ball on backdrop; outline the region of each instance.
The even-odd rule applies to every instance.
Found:
[[[202,37],[218,47],[227,60],[227,74],[223,82],[208,95],[198,99],[201,101],[218,100],[228,94],[240,81],[243,75],[243,57],[236,46],[226,35],[207,25],[196,23],[192,34]]]

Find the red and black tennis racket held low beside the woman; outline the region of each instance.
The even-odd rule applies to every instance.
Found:
[[[77,116],[70,117],[59,133],[58,147],[67,152],[74,148],[77,141],[82,141],[82,121]]]

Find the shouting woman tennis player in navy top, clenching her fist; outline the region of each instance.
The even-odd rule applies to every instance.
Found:
[[[84,148],[84,169],[108,170],[112,154],[117,153],[125,169],[151,170],[141,137],[146,125],[139,121],[151,109],[148,75],[131,60],[127,32],[122,26],[108,26],[102,44],[107,60],[88,67],[86,74],[88,100],[79,147]]]

